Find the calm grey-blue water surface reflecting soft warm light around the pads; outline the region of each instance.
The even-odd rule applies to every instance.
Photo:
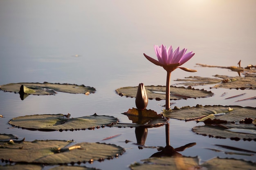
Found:
[[[180,46],[195,52],[184,67],[196,73],[175,70],[171,84],[177,78],[212,75],[236,76],[220,68],[195,67],[196,63],[243,67],[256,64],[256,1],[254,0],[181,0],[181,1],[63,1],[63,0],[0,0],[0,85],[18,82],[51,82],[84,84],[97,92],[83,94],[58,93],[52,96],[29,95],[20,100],[18,94],[0,91],[0,133],[13,134],[27,141],[35,139],[74,139],[78,142],[101,140],[126,148],[124,155],[111,161],[94,162],[102,170],[126,169],[135,161],[146,159],[156,149],[139,150],[135,129],[104,128],[74,132],[39,132],[11,128],[9,119],[33,114],[111,115],[121,122],[130,122],[125,115],[135,107],[134,98],[120,97],[115,89],[123,86],[165,85],[164,69],[145,59],[143,53],[155,57],[154,44]],[[78,55],[78,57],[76,57]],[[236,99],[256,96],[255,91],[209,89],[215,93],[204,99],[175,101],[172,105],[239,105],[255,106],[255,100]],[[224,100],[246,93],[243,97]],[[161,113],[165,101],[150,100],[148,109]],[[205,148],[213,144],[229,145],[256,151],[255,141],[231,141],[196,135],[191,131],[195,122],[170,120],[170,141],[174,148],[196,142],[181,152],[207,161],[213,157],[234,157],[256,160],[256,156],[225,155]],[[165,146],[165,127],[148,129],[146,146]],[[124,141],[130,140],[126,144]],[[226,151],[226,150],[225,150]],[[229,150],[227,150],[229,151]]]

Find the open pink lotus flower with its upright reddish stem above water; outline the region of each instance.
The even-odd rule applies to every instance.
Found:
[[[170,109],[170,79],[171,79],[171,72],[174,71],[176,68],[180,68],[184,71],[189,72],[196,72],[196,70],[192,70],[185,67],[180,67],[185,62],[189,61],[195,53],[192,51],[189,53],[186,53],[187,49],[182,49],[180,51],[180,47],[175,49],[173,51],[173,47],[170,46],[168,49],[166,49],[166,46],[154,46],[155,47],[155,53],[157,55],[157,60],[149,57],[144,53],[144,56],[150,61],[156,64],[157,66],[162,66],[167,71],[167,77],[166,77],[166,104],[165,108],[166,110]]]

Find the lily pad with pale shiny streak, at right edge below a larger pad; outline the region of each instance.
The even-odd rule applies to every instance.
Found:
[[[254,124],[222,124],[195,126],[192,128],[193,132],[215,138],[231,140],[254,140],[256,141],[256,126]]]

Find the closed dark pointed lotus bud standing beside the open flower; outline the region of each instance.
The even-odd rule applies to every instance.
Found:
[[[143,83],[140,83],[138,86],[135,104],[139,110],[144,110],[148,106],[148,96]]]

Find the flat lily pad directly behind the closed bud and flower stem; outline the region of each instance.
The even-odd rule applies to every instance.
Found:
[[[145,86],[145,89],[148,99],[161,100],[166,98],[166,86]],[[137,90],[138,87],[121,87],[116,89],[116,92],[121,96],[136,97]],[[213,95],[211,91],[195,89],[191,86],[187,88],[170,86],[170,93],[171,100],[210,97]]]

